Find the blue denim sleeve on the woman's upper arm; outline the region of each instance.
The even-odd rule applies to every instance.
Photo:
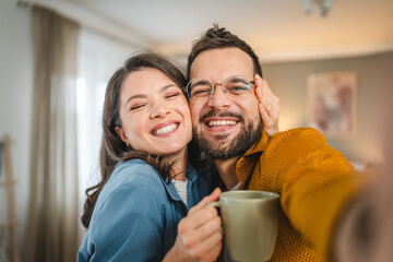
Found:
[[[80,252],[79,261],[160,261],[164,226],[155,195],[143,182],[115,188],[96,206],[81,249],[88,255]]]

